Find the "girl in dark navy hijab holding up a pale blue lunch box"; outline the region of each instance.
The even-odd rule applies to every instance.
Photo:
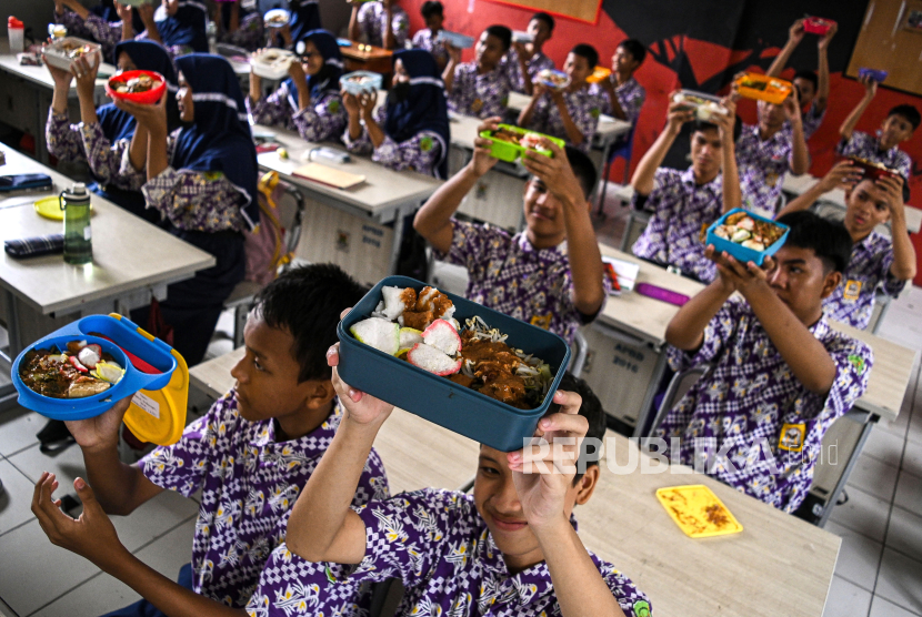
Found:
[[[411,169],[444,179],[450,141],[444,83],[432,54],[409,49],[393,54],[393,87],[374,110],[377,93],[342,93],[349,127],[342,135],[350,151],[372,152],[371,160],[393,170]]]

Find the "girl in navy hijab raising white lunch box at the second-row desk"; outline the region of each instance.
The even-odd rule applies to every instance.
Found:
[[[262,79],[250,73],[247,108],[258,124],[297,130],[308,141],[338,140],[347,115],[339,93],[342,55],[337,38],[312,30],[294,45],[301,62],[292,62],[274,93],[262,97]]]

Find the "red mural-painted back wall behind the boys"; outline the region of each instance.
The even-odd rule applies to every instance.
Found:
[[[424,28],[423,19],[420,16],[420,8],[423,1],[400,0],[401,7],[410,14],[412,32]],[[465,0],[442,0],[442,2],[445,6],[445,28],[472,37],[479,37],[484,28],[493,23],[508,26],[513,30],[524,30],[530,16],[533,13],[530,10],[484,0],[473,0],[470,4],[473,7],[473,12],[469,13],[469,2]],[[802,12],[802,10],[793,11],[791,21],[800,17]],[[651,14],[650,19],[655,19],[655,16]],[[786,31],[783,29],[780,32],[766,32],[763,36],[775,44],[783,44],[786,40]],[[568,51],[573,45],[587,42],[599,51],[599,55],[602,59],[601,63],[610,67],[611,57],[615,48],[621,41],[628,38],[630,38],[629,34],[622,31],[605,11],[600,11],[599,22],[595,26],[560,18],[557,20],[553,38],[544,47],[544,52],[560,68],[563,64]],[[806,48],[808,45],[813,45],[815,44],[814,41],[814,37],[808,36],[801,42],[800,47]],[[845,40],[842,37],[838,37],[833,39],[832,45],[851,47],[853,42],[853,40]],[[745,68],[746,59],[752,58],[753,54],[758,54],[760,58],[770,58],[780,51],[778,47],[764,47],[758,50],[731,50],[720,44],[681,34],[669,39],[665,44],[659,42],[651,45],[651,48],[649,50],[651,53],[655,52],[665,59],[674,57],[677,52],[684,52],[698,83],[704,83],[709,78],[718,75],[730,64],[742,62],[742,68]],[[463,59],[467,61],[472,58],[473,50],[465,50]],[[811,52],[810,58],[815,59],[815,52]],[[812,62],[815,62],[815,60],[812,60]],[[815,68],[815,64],[811,65],[811,68]],[[793,70],[789,69],[785,77],[790,78],[792,75]],[[673,89],[680,87],[677,73],[662,62],[653,61],[650,54],[648,54],[647,61],[638,70],[635,77],[647,89],[647,103],[643,107],[634,132],[634,164],[637,164],[642,153],[657,139],[663,125],[668,95]],[[809,142],[813,159],[810,171],[813,175],[822,175],[835,161],[834,149],[839,140],[839,125],[859,102],[863,92],[864,89],[861,84],[852,79],[843,78],[841,71],[836,71],[833,68],[830,78],[829,111],[826,112],[822,127]],[[888,110],[901,103],[910,103],[922,111],[922,98],[880,88],[871,109],[858,124],[858,130],[873,133],[883,121]],[[743,121],[754,122],[754,102],[741,101],[739,113]],[[922,162],[922,134],[920,133],[922,133],[922,129],[916,132],[916,135],[910,142],[903,144],[902,148],[915,162],[913,178],[911,180],[912,199],[910,203],[922,208],[922,163],[920,163]],[[611,170],[611,178],[620,179],[623,175],[623,161],[615,161]],[[922,234],[913,234],[912,239],[920,261],[920,275],[914,283],[922,285]]]

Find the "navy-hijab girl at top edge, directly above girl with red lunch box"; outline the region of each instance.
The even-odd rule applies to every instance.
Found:
[[[162,0],[157,11],[151,4],[141,4],[138,12],[144,22],[144,31],[136,39],[157,41],[173,58],[197,51],[208,52],[208,9],[203,0]]]

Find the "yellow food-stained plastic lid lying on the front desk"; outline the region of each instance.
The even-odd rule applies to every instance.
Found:
[[[679,528],[690,538],[725,536],[743,530],[736,517],[703,484],[659,488],[657,498]],[[708,508],[713,508],[722,520],[712,520]]]

